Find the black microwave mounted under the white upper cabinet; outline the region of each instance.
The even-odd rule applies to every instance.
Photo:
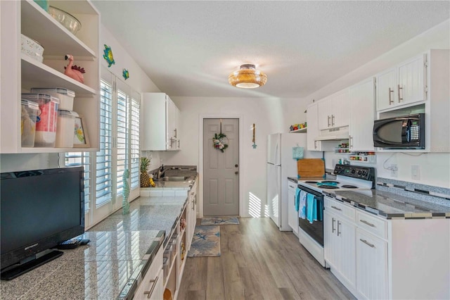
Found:
[[[425,113],[375,120],[373,146],[383,149],[425,149]]]

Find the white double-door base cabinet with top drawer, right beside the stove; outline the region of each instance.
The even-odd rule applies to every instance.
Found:
[[[355,208],[325,197],[323,244],[325,261],[331,272],[349,289],[356,281]]]

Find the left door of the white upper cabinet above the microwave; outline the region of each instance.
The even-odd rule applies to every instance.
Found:
[[[397,98],[395,98],[396,77],[396,68],[385,70],[377,75],[377,111],[390,108],[397,101]]]

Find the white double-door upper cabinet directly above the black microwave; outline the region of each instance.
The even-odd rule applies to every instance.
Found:
[[[420,54],[377,75],[377,111],[424,101],[426,56]]]

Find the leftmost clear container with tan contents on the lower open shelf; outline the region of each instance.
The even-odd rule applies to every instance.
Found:
[[[22,99],[22,112],[20,120],[20,133],[23,147],[34,147],[36,132],[36,116],[39,106],[36,102]]]

